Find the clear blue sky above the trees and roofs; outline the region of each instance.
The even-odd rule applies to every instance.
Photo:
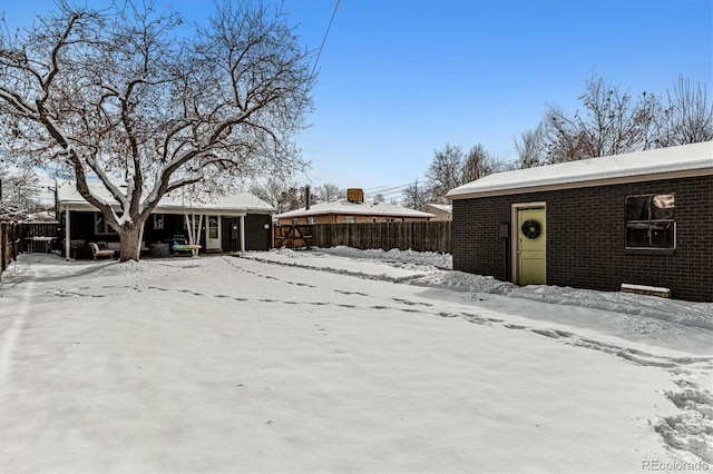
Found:
[[[156,0],[196,21],[206,3]],[[335,3],[283,6],[318,49]],[[0,0],[0,11],[12,28],[51,4]],[[399,190],[447,142],[512,160],[548,103],[575,111],[592,71],[633,93],[664,93],[683,75],[713,96],[712,30],[710,0],[340,0],[297,137],[312,169],[297,180]]]

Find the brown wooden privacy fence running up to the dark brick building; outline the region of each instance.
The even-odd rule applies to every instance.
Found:
[[[450,253],[450,223],[368,223],[368,224],[315,224],[299,226],[309,235],[310,245],[316,247],[348,247],[390,250]],[[290,226],[283,226],[289,229]],[[303,241],[295,241],[302,247]],[[289,246],[289,245],[287,245]]]

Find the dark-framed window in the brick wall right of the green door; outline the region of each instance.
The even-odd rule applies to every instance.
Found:
[[[676,248],[676,198],[667,195],[626,197],[626,247]]]

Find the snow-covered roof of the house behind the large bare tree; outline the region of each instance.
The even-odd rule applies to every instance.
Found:
[[[91,191],[113,205],[118,203],[109,195],[109,191],[99,182],[88,184]],[[74,181],[64,181],[57,184],[57,204],[75,210],[94,209],[89,203],[77,190]],[[176,190],[165,195],[158,201],[158,206],[154,209],[156,214],[185,214],[186,211],[199,210],[203,214],[227,215],[245,215],[250,214],[272,214],[274,208],[250,192],[235,192],[224,196],[209,196],[204,194],[194,199],[185,197],[180,190]]]

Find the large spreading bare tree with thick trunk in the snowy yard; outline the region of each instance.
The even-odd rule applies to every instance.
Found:
[[[138,259],[166,192],[305,166],[291,138],[314,78],[285,16],[224,0],[195,37],[176,38],[180,23],[150,0],[102,11],[58,0],[31,30],[0,33],[0,145],[72,176],[118,233],[121,260]]]

